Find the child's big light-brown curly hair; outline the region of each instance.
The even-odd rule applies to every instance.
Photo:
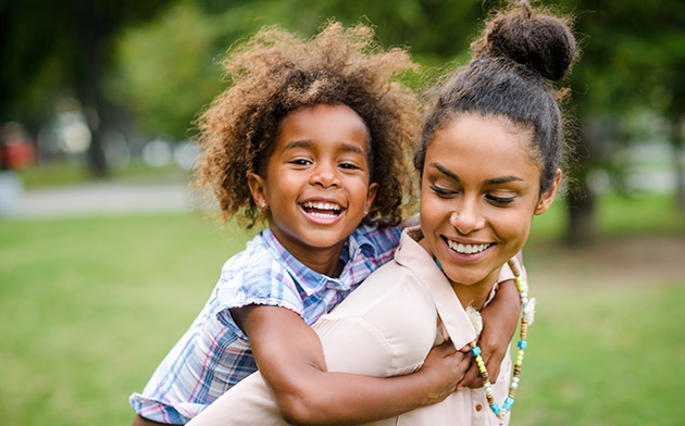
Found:
[[[328,22],[302,40],[278,27],[265,27],[224,60],[231,86],[198,118],[203,155],[198,184],[219,200],[224,220],[248,228],[265,218],[248,187],[248,175],[263,176],[283,118],[316,104],[345,104],[370,134],[371,181],[378,184],[365,221],[386,217],[397,224],[413,200],[408,155],[420,131],[420,104],[400,78],[418,72],[404,49],[387,51],[365,25],[345,29]]]

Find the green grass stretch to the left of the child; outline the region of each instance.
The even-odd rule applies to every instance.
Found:
[[[130,424],[246,238],[180,215],[0,222],[2,423]]]

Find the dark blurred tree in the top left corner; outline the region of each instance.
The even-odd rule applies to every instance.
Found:
[[[101,135],[113,105],[102,91],[112,40],[126,24],[154,14],[151,0],[0,2],[0,121],[20,121],[35,134],[54,99],[73,91],[91,133],[89,164],[104,175]]]

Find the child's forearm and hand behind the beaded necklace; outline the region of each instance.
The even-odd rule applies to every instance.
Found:
[[[511,338],[516,331],[520,313],[521,298],[516,283],[512,279],[500,283],[495,299],[481,311],[483,333],[478,340],[478,347],[491,384],[497,381],[502,360],[507,354]],[[471,363],[469,371],[459,383],[458,390],[464,386],[470,388],[483,386],[483,379],[475,362]]]

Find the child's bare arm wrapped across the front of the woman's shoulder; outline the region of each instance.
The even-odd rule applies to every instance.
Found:
[[[248,305],[231,314],[248,335],[260,373],[288,423],[359,424],[429,405],[454,390],[470,363],[468,354],[443,344],[432,350],[419,372],[406,376],[326,372],[316,333],[295,312]]]

